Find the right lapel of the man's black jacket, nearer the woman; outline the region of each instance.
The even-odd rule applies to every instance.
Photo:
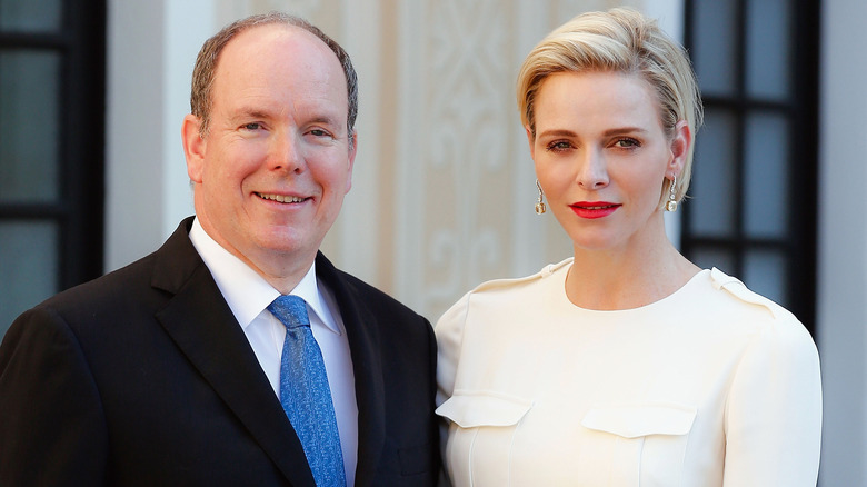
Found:
[[[376,316],[363,305],[363,296],[321,252],[316,257],[316,271],[317,277],[335,294],[349,340],[358,405],[356,486],[369,486],[373,481],[386,439],[386,392],[378,352],[379,328],[375,326]]]

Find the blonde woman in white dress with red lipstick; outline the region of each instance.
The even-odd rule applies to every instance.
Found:
[[[640,13],[578,16],[528,56],[518,105],[575,256],[470,291],[436,327],[455,486],[807,486],[816,347],[787,310],[668,241],[701,107]]]

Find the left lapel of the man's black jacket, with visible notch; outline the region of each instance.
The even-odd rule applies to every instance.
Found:
[[[152,285],[173,292],[157,319],[295,486],[315,487],[303,449],[185,220],[158,251]]]

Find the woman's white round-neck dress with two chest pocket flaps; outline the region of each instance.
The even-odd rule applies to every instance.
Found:
[[[815,486],[816,346],[718,269],[636,309],[572,305],[571,259],[486,282],[436,326],[462,486]]]

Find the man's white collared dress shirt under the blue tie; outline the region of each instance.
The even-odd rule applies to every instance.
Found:
[[[190,240],[243,329],[279,400],[280,356],[286,327],[268,311],[267,307],[280,296],[280,292],[243,261],[217,244],[201,227],[198,218],[192,222]],[[328,385],[331,388],[347,485],[352,486],[358,461],[358,405],[352,359],[340,309],[330,290],[318,282],[316,262],[290,294],[307,301],[310,329],[322,350]]]

